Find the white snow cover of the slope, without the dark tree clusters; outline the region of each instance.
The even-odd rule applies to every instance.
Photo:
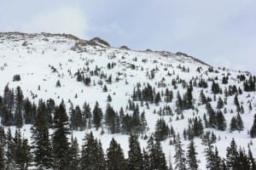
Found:
[[[108,63],[113,63],[113,69],[108,69]],[[182,71],[183,66],[188,71]],[[3,95],[3,88],[6,84],[9,84],[9,88],[16,88],[20,86],[25,97],[34,100],[36,103],[38,99],[55,99],[57,103],[64,99],[67,101],[70,99],[73,105],[82,105],[84,101],[90,103],[90,107],[93,107],[96,101],[99,102],[102,107],[102,111],[105,111],[107,105],[108,94],[112,97],[111,105],[114,110],[119,111],[122,106],[124,109],[128,104],[128,100],[131,99],[133,89],[137,87],[137,82],[141,84],[149,83],[155,87],[156,92],[161,92],[166,88],[158,88],[157,82],[165,82],[167,88],[172,89],[174,99],[172,101],[172,111],[175,111],[175,101],[177,96],[177,90],[183,96],[186,92],[186,88],[182,87],[182,84],[177,85],[177,89],[172,87],[172,79],[176,79],[177,76],[189,82],[192,77],[201,77],[204,79],[218,77],[216,82],[219,83],[221,88],[229,87],[230,85],[236,85],[237,88],[243,89],[242,82],[237,79],[238,75],[244,74],[247,77],[250,76],[248,72],[230,71],[227,69],[215,69],[213,72],[209,72],[207,65],[198,59],[189,57],[186,54],[172,54],[165,51],[132,51],[126,48],[112,48],[107,42],[102,41],[99,38],[95,38],[91,41],[85,41],[78,37],[66,34],[26,34],[19,32],[7,32],[0,33],[0,95]],[[106,82],[107,78],[90,77],[90,86],[85,86],[83,82],[77,82],[74,73],[79,71],[84,72],[84,76],[89,76],[90,71],[100,69],[104,73],[112,75],[113,82],[110,84]],[[197,71],[200,68],[201,71]],[[54,71],[55,70],[55,71]],[[154,71],[154,79],[149,79],[148,75]],[[20,82],[13,82],[14,75],[19,74],[21,77]],[[229,83],[222,84],[221,79],[223,76],[229,76]],[[116,81],[118,77],[119,81]],[[61,88],[55,88],[57,80],[61,82]],[[101,84],[107,85],[108,92],[102,91]],[[208,88],[204,89],[204,93],[207,97],[213,99],[211,92],[212,82],[208,82]],[[40,90],[38,90],[40,86]],[[205,105],[198,105],[200,103],[199,94],[202,88],[194,88],[193,96],[195,98],[195,105],[199,112],[195,113],[193,110],[183,112],[184,119],[176,121],[176,115],[174,116],[162,116],[169,125],[172,124],[176,133],[183,134],[183,129],[188,127],[188,118],[195,116],[203,116],[206,113]],[[75,98],[77,94],[77,98]],[[35,97],[37,96],[37,97]],[[216,99],[221,96],[224,99],[224,94],[217,94]],[[256,139],[251,139],[247,134],[247,130],[253,125],[253,115],[255,113],[256,99],[255,93],[246,93],[238,96],[240,102],[243,103],[244,114],[241,115],[244,122],[244,130],[240,133],[230,133],[229,124],[232,116],[236,116],[236,113],[231,113],[231,110],[236,111],[234,105],[234,96],[230,96],[227,99],[228,105],[225,105],[227,113],[224,115],[227,121],[227,129],[217,131],[216,129],[205,129],[205,131],[213,131],[220,140],[216,143],[218,146],[220,156],[225,156],[225,149],[230,144],[232,138],[236,139],[236,144],[241,145],[247,149],[247,144],[252,141],[253,145],[251,149],[256,156]],[[248,101],[253,104],[253,111],[248,110]],[[140,102],[138,102],[140,105]],[[166,105],[165,102],[160,102],[160,105],[150,105],[148,110],[146,106],[140,106],[140,111],[145,111],[146,118],[149,127],[149,133],[154,133],[154,126],[156,120],[160,117],[158,114],[154,114],[154,110],[159,111],[160,107]],[[216,109],[217,102],[212,101],[212,108]],[[129,111],[125,111],[129,112]],[[170,122],[172,117],[172,122]],[[30,125],[25,125],[23,133],[26,137],[30,136]],[[94,135],[102,140],[102,147],[104,150],[108,148],[108,144],[112,138],[115,138],[121,144],[123,150],[125,150],[125,156],[127,156],[128,148],[128,136],[123,134],[108,134],[105,132],[101,135],[100,131],[90,129]],[[90,131],[87,130],[86,132]],[[79,143],[83,144],[84,134],[86,132],[73,132],[73,135],[78,138]],[[183,138],[182,138],[183,139]],[[142,147],[147,144],[146,140],[140,139]],[[183,140],[186,150],[189,141]],[[196,150],[198,151],[199,159],[201,160],[200,168],[205,169],[205,158],[203,150],[205,146],[201,144],[201,139],[195,139]],[[169,139],[162,142],[163,150],[166,153],[166,159],[169,160],[169,156],[174,155],[174,146],[169,144]],[[173,157],[172,157],[173,160]],[[172,161],[173,163],[173,161]]]

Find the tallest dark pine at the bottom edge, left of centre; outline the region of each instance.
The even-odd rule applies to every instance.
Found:
[[[52,134],[53,153],[55,158],[55,167],[61,170],[67,169],[69,142],[67,139],[68,117],[64,102],[56,108],[54,116],[55,131]]]

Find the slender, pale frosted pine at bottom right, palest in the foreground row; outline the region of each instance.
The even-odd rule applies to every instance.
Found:
[[[177,170],[186,170],[186,158],[185,158],[185,153],[183,150],[183,144],[179,138],[179,134],[177,134],[177,139],[176,139],[176,144],[175,144],[175,167],[174,169]]]

